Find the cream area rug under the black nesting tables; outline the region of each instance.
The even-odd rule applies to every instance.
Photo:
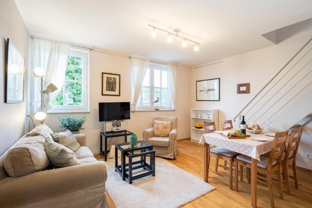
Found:
[[[115,159],[107,160],[106,190],[116,208],[180,207],[215,189],[163,158],[156,157],[155,160],[155,177],[140,178],[132,181],[132,184],[127,179],[123,181],[115,172]],[[149,163],[149,157],[146,157],[146,161]],[[142,172],[143,169],[135,171]]]

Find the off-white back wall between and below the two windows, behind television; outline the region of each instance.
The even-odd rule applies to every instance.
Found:
[[[81,48],[78,48],[81,49]],[[104,51],[103,49],[97,49]],[[130,102],[131,101],[131,60],[126,57],[114,56],[90,51],[90,113],[81,133],[87,137],[87,146],[93,153],[100,152],[100,132],[103,131],[103,122],[99,122],[99,102]],[[120,97],[101,95],[102,72],[120,74]],[[174,111],[159,112],[131,112],[131,119],[127,120],[127,129],[136,133],[142,139],[143,130],[150,128],[154,115],[178,117],[178,139],[190,138],[190,96],[191,96],[191,69],[188,66],[178,65],[178,95],[177,109]],[[72,114],[61,114],[72,115]],[[75,116],[83,116],[76,113]],[[57,114],[47,114],[45,123],[54,131],[60,132]],[[110,139],[108,140],[110,141]],[[123,138],[112,139],[112,143],[120,143]],[[109,147],[110,149],[110,147]]]

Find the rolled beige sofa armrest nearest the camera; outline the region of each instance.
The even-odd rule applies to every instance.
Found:
[[[45,170],[21,177],[6,177],[0,181],[0,207],[21,206],[96,185],[103,186],[104,194],[106,178],[107,170],[103,161]]]

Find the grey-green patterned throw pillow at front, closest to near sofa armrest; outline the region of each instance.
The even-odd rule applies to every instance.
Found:
[[[80,164],[75,153],[59,143],[46,139],[44,148],[46,155],[54,167],[69,167]]]

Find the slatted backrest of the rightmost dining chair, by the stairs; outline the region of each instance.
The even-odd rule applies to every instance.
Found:
[[[297,136],[295,137],[295,134],[297,134]],[[290,138],[287,144],[287,148],[286,148],[286,153],[285,153],[285,157],[284,157],[284,161],[287,162],[290,156],[290,152],[293,151],[291,157],[296,158],[297,155],[297,151],[299,148],[299,142],[300,142],[300,138],[302,135],[302,127],[300,128],[293,128],[291,130],[291,134],[290,134]],[[293,143],[295,143],[295,145],[293,145]]]

